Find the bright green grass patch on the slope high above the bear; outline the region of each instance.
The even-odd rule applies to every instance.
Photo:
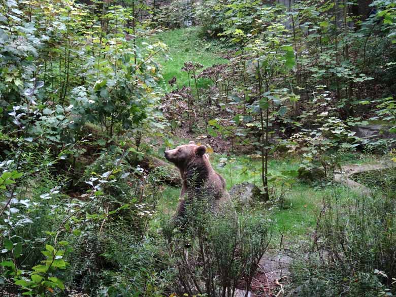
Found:
[[[161,41],[169,47],[169,58],[158,56],[157,60],[162,65],[163,80],[160,82],[164,91],[170,92],[175,88],[188,86],[187,73],[182,71],[184,62],[193,61],[204,65],[204,68],[213,64],[226,63],[227,60],[221,57],[224,48],[215,41],[205,41],[200,37],[200,27],[189,27],[176,30],[168,30],[158,33],[145,40],[147,43]],[[168,81],[173,77],[177,79],[177,86],[171,87]],[[190,79],[191,87],[194,89],[193,80]],[[200,79],[198,87],[205,88],[211,84],[210,80]]]

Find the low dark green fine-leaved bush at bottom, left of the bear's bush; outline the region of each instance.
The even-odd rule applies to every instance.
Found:
[[[161,296],[173,274],[166,244],[137,238],[130,226],[111,224],[73,243],[70,287],[93,296]]]

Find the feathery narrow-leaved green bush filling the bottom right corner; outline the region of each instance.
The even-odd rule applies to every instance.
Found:
[[[293,278],[302,296],[384,296],[396,292],[396,207],[391,197],[326,197],[314,251]]]

